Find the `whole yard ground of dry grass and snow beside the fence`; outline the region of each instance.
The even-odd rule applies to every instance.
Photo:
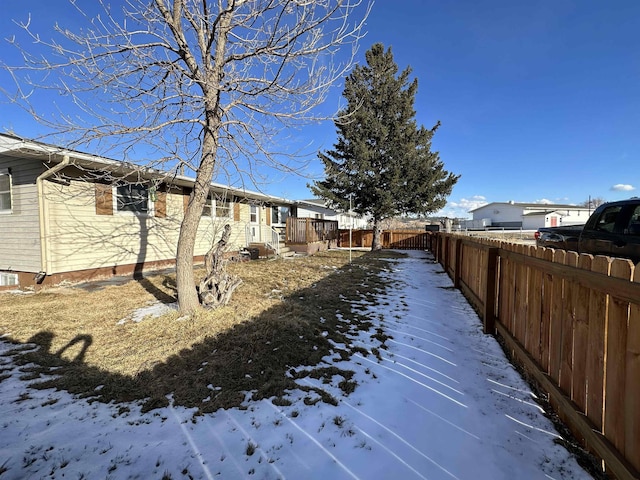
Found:
[[[442,267],[393,256],[235,265],[191,320],[128,319],[164,276],[1,295],[0,478],[591,478]]]

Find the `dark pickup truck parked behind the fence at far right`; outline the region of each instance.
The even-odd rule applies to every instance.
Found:
[[[535,233],[539,247],[629,258],[640,262],[640,198],[600,205],[584,225],[545,227]]]

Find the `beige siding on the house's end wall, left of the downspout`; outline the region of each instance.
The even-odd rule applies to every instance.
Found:
[[[39,272],[40,225],[36,178],[39,161],[0,156],[0,168],[11,169],[12,212],[0,214],[0,270]]]

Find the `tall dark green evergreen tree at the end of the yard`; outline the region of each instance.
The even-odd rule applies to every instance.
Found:
[[[335,121],[333,150],[319,152],[325,180],[310,186],[330,206],[372,218],[372,250],[382,248],[381,221],[403,214],[427,214],[446,204],[459,176],[444,170],[431,139],[440,126],[418,127],[413,109],[418,81],[411,68],[396,76],[391,48],[376,43],[346,78],[347,106]]]

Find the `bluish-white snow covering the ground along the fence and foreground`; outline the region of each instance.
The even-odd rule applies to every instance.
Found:
[[[590,478],[440,266],[425,252],[393,265],[394,286],[367,307],[393,339],[382,361],[352,358],[359,385],[331,392],[337,407],[293,392],[291,406],[250,402],[195,421],[174,406],[119,414],[28,389],[0,356],[0,480]]]

